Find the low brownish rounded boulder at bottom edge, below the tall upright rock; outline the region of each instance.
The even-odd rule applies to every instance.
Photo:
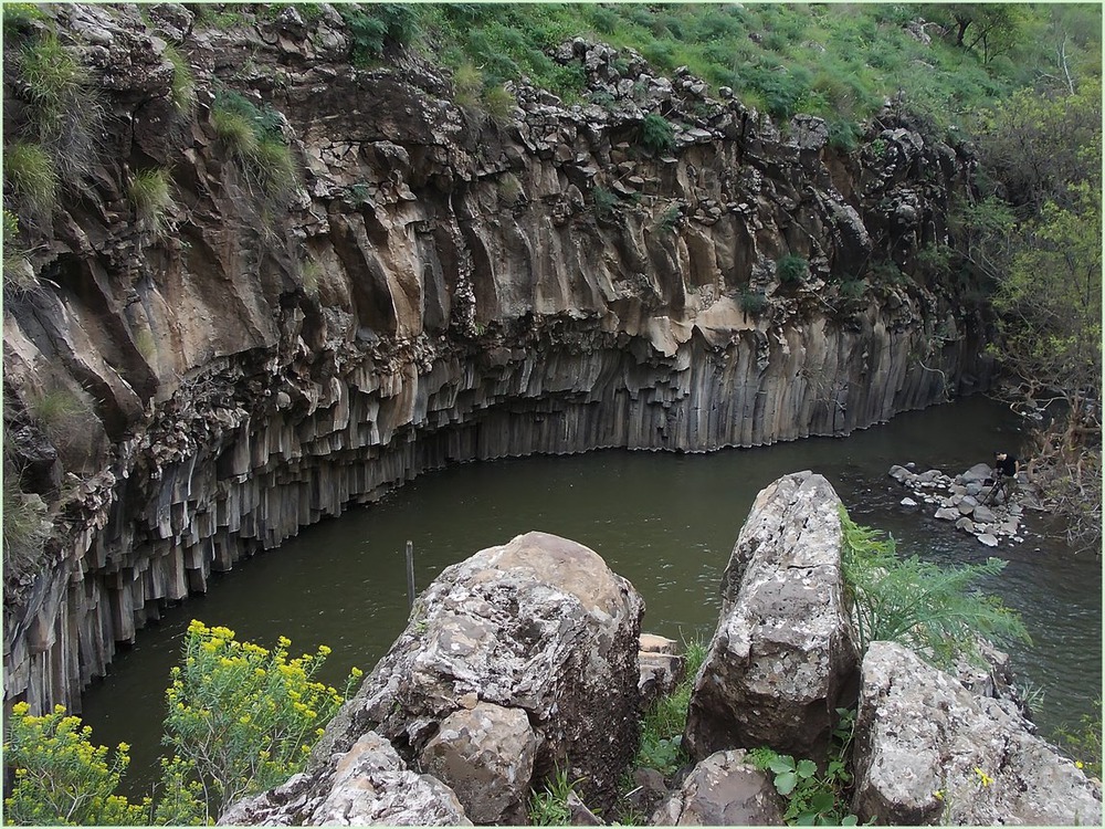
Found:
[[[740,749],[717,752],[697,764],[666,799],[652,826],[783,826],[787,805],[768,776]]]

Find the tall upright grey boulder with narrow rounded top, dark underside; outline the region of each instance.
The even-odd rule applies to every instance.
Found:
[[[854,701],[856,655],[842,602],[840,499],[821,475],[765,487],[722,583],[722,613],[695,683],[685,743],[703,758],[768,745],[824,755]]]

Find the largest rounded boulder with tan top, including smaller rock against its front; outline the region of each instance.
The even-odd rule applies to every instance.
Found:
[[[440,770],[477,822],[523,817],[558,767],[582,778],[589,806],[609,807],[636,751],[642,612],[632,586],[575,542],[527,533],[482,550],[422,594],[316,755],[376,731]]]

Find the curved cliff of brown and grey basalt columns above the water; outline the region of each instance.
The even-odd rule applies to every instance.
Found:
[[[322,10],[229,31],[171,4],[50,12],[103,135],[24,231],[38,286],[6,297],[6,444],[53,522],[45,560],[6,569],[8,701],[78,704],[212,570],[427,470],[845,436],[988,382],[981,322],[916,256],[969,156],[892,108],[842,154],[817,119],[577,40],[556,59],[611,103],[519,83],[497,123],[409,54],[352,67]],[[227,91],[272,107],[298,187],[259,187],[219,137]],[[24,97],[6,61],[6,141]],[[648,112],[670,149],[642,145]],[[150,169],[162,232],[128,198]],[[34,417],[59,392],[85,406],[64,436]]]

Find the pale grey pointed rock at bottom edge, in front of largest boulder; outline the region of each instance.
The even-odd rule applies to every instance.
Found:
[[[391,744],[368,732],[325,772],[295,775],[241,800],[220,826],[472,826],[452,790],[409,770]]]

